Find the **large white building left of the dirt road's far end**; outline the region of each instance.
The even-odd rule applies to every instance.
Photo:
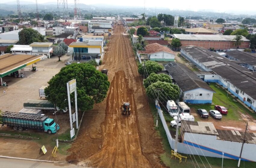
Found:
[[[111,21],[95,21],[91,20],[88,22],[88,32],[112,32]]]

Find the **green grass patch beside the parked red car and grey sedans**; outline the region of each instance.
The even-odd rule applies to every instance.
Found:
[[[239,112],[243,114],[250,114],[251,116],[256,118],[255,113],[251,113],[241,103],[234,100],[234,98],[230,94],[228,95],[228,98],[227,98],[227,92],[222,88],[220,88],[216,83],[211,83],[210,87],[216,92],[213,94],[212,104],[191,104],[189,105],[189,107],[195,110],[201,108],[209,111],[209,110],[214,110],[215,105],[224,106],[227,108],[228,114],[222,116],[222,119],[221,119],[222,121],[239,120],[241,118]]]

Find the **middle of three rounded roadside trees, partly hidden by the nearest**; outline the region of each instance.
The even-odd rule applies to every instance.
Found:
[[[148,88],[148,86],[151,85],[151,83],[155,83],[157,81],[172,83],[171,77],[169,75],[167,75],[167,74],[164,74],[164,73],[160,73],[160,74],[151,73],[147,77],[147,79],[144,80],[144,87]]]

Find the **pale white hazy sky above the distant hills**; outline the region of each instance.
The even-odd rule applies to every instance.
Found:
[[[77,0],[78,1],[78,0]],[[8,4],[12,4],[12,2],[16,3],[16,1],[10,1]],[[32,2],[35,3],[35,0],[20,0],[20,4],[22,5],[23,3],[26,2]],[[38,0],[37,1],[39,4],[45,4],[45,3],[52,3],[52,4],[57,4],[57,0]],[[204,1],[200,0],[195,0],[193,3],[189,0],[183,0],[182,5],[180,5],[180,1],[174,1],[172,2],[169,6],[168,3],[169,1],[167,0],[162,0],[163,3],[155,3],[153,0],[130,0],[129,4],[123,5],[123,1],[117,1],[117,0],[112,0],[109,1],[109,3],[106,3],[104,0],[98,0],[98,3],[95,3],[95,1],[85,1],[85,0],[80,0],[79,3],[83,3],[86,5],[105,5],[106,7],[118,7],[118,6],[123,6],[123,7],[142,7],[144,8],[144,2],[145,2],[145,9],[148,10],[148,8],[168,8],[170,10],[191,10],[191,11],[206,11],[206,12],[219,12],[219,13],[234,13],[234,14],[249,14],[249,15],[256,15],[255,11],[255,5],[256,1],[251,1],[250,5],[246,6],[246,8],[241,9],[241,5],[237,5],[237,3],[233,2],[230,3],[229,1],[221,1],[221,4],[214,4],[214,5],[208,5]],[[1,2],[1,3],[6,3],[6,2]],[[73,4],[73,0],[67,0],[68,4]],[[209,7],[211,6],[211,8]],[[39,7],[40,8],[40,7]]]

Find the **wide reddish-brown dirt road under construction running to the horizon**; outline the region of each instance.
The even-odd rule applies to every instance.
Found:
[[[88,167],[163,167],[161,139],[154,129],[128,35],[116,25],[103,65],[111,82],[107,98],[87,111],[80,135],[67,161]],[[130,102],[131,115],[121,115],[121,103]]]

